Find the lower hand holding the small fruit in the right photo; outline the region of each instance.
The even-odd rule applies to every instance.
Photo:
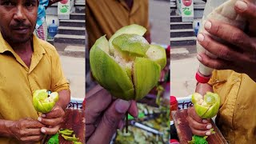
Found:
[[[190,129],[192,130],[193,134],[198,136],[205,136],[210,135],[210,129],[213,127],[210,124],[209,119],[202,119],[198,116],[198,114],[194,110],[194,106],[190,107],[187,110],[188,116],[187,121],[189,122]]]

